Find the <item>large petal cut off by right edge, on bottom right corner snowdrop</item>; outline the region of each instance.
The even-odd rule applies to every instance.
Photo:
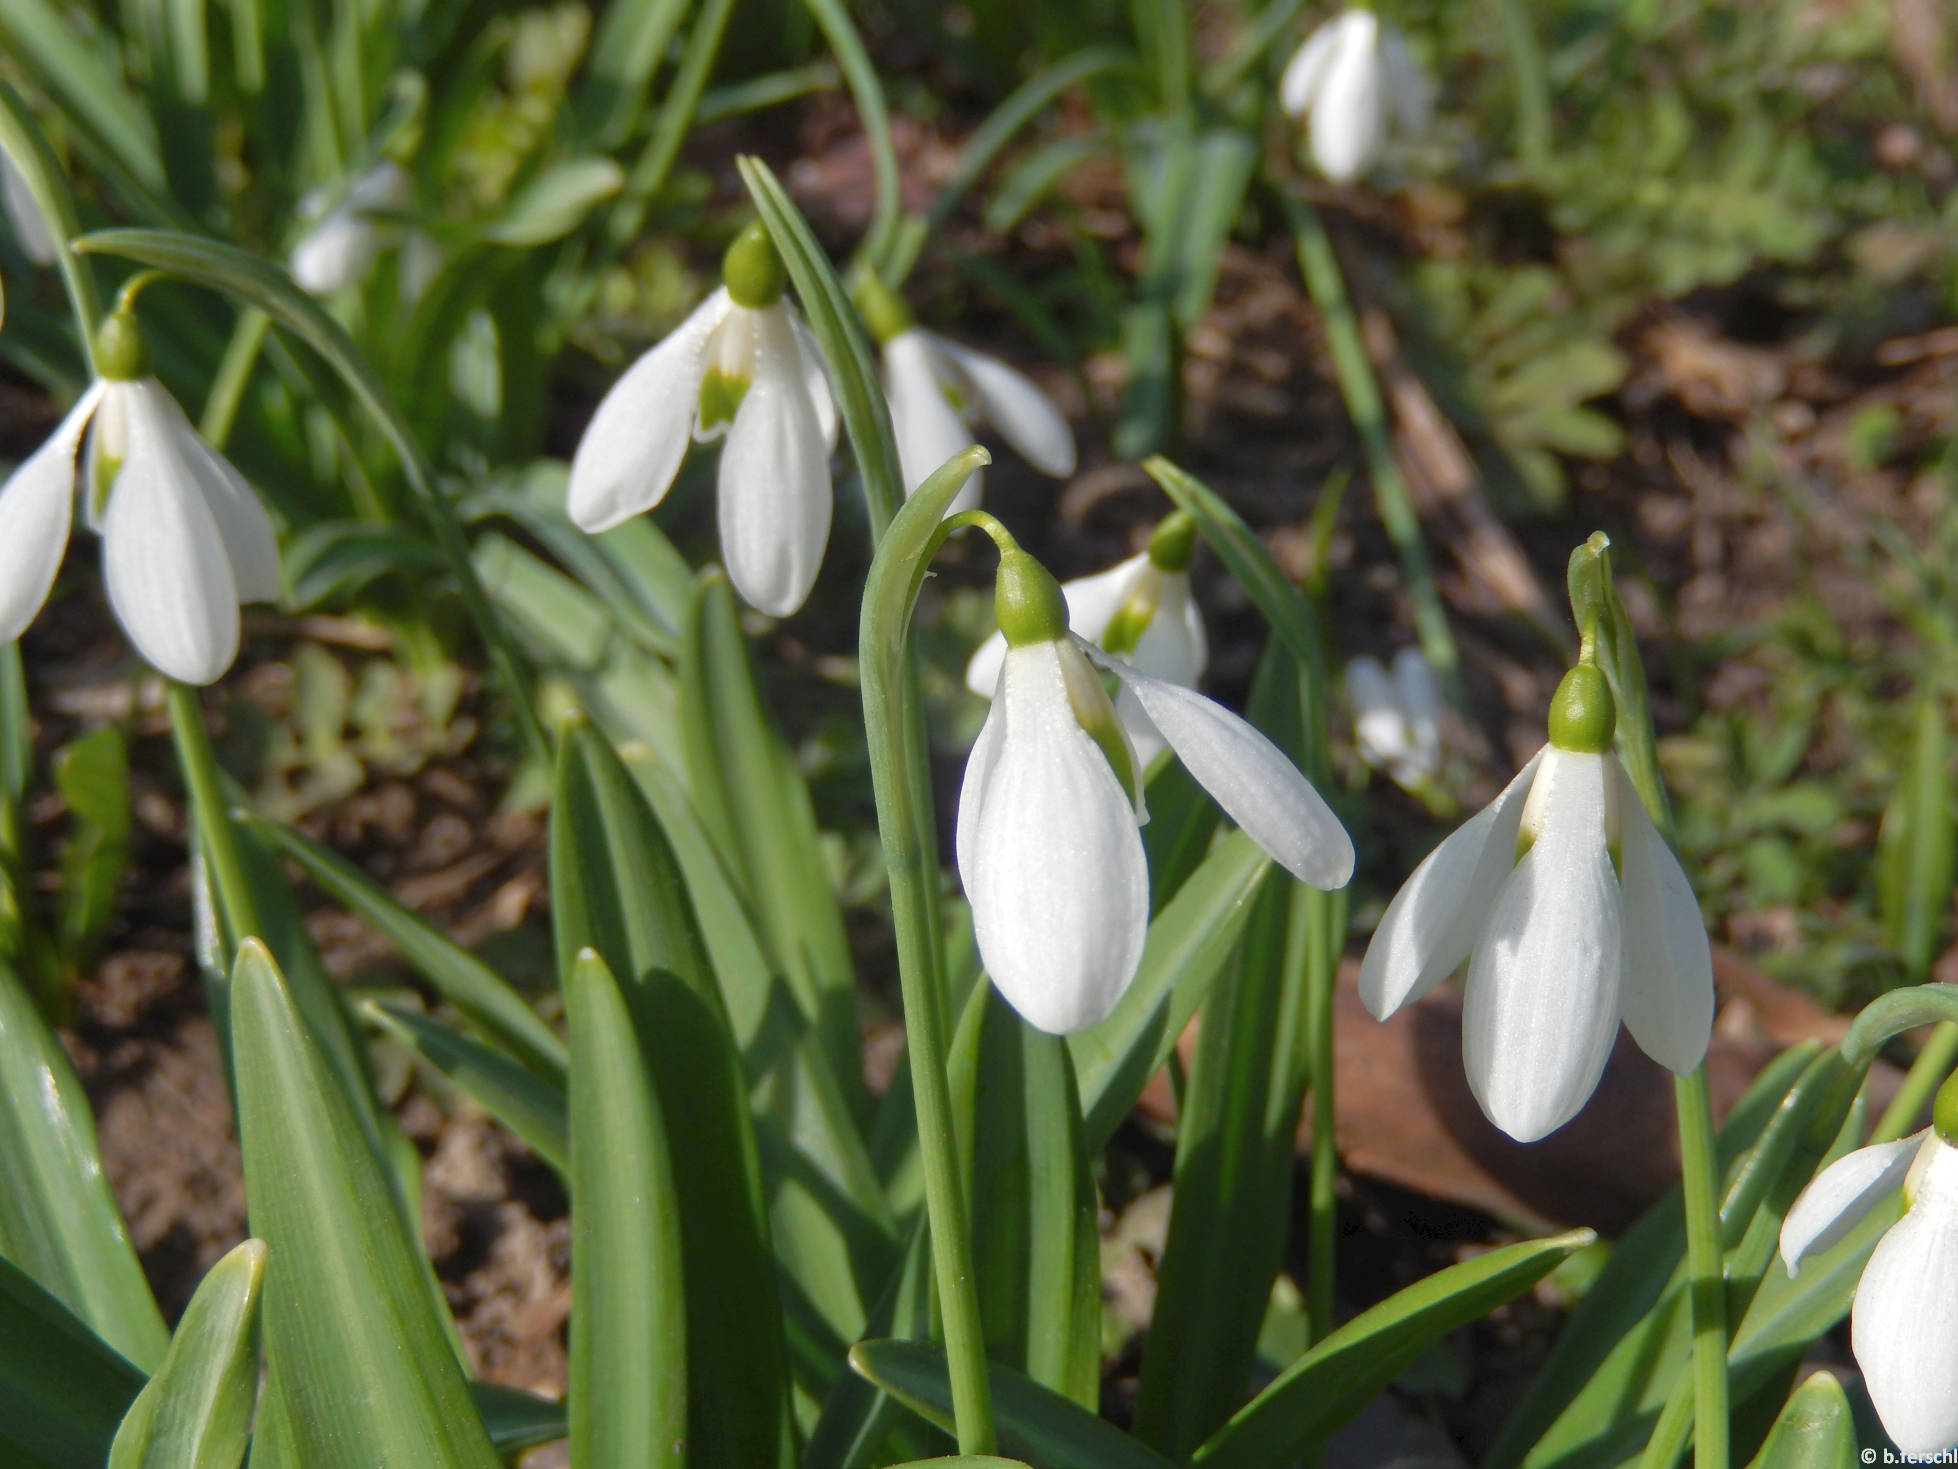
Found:
[[[1864,1265],[1850,1346],[1884,1430],[1909,1455],[1958,1447],[1958,1148]]]

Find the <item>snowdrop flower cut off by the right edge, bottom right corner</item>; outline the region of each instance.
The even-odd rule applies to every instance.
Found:
[[[1958,1447],[1958,1148],[1927,1128],[1839,1158],[1788,1210],[1782,1259],[1794,1275],[1899,1189],[1903,1218],[1856,1283],[1850,1346],[1884,1432],[1929,1459]]]

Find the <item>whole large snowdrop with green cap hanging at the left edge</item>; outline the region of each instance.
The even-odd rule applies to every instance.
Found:
[[[211,684],[237,658],[239,603],[278,595],[278,543],[243,476],[149,376],[127,306],[96,337],[102,378],[0,486],[0,642],[22,635],[61,568],[74,513],[102,535],[110,607],[155,668]]]

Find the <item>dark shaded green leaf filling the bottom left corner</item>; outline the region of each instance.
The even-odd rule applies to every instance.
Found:
[[[0,1457],[8,1465],[102,1463],[141,1391],[141,1371],[0,1259]]]

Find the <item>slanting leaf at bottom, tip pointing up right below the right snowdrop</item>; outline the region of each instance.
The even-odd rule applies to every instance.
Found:
[[[1302,1457],[1429,1346],[1514,1301],[1596,1238],[1592,1230],[1570,1230],[1525,1240],[1396,1291],[1286,1367],[1190,1463],[1263,1469]]]

